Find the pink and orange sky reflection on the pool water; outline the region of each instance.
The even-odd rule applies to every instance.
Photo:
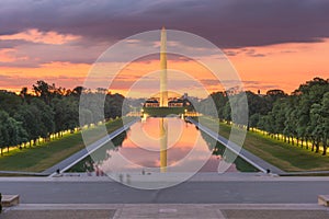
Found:
[[[160,141],[163,138],[160,135],[160,119],[168,124],[168,172],[196,172],[201,166],[202,172],[217,172],[223,160],[211,155],[206,141],[194,125],[180,118],[152,117],[134,124],[122,147],[117,151],[107,151],[111,155],[100,168],[104,172],[160,172]],[[235,164],[228,171],[237,172]]]

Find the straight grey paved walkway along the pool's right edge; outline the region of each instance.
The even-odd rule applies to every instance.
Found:
[[[216,139],[217,141],[219,141],[222,145],[224,145],[225,147],[230,149],[234,153],[238,154],[240,158],[246,160],[248,163],[252,164],[258,170],[260,170],[262,172],[266,172],[266,170],[270,170],[271,173],[279,174],[279,175],[286,174],[286,172],[284,172],[283,170],[279,169],[279,168],[268,163],[266,161],[262,160],[261,158],[250,153],[249,151],[245,150],[240,146],[227,140],[223,136],[216,134],[215,131],[201,125],[200,123],[193,120],[192,118],[188,117],[186,119],[189,122],[191,122],[192,124],[194,124],[195,126],[197,126],[201,130],[203,130],[204,132],[206,132],[207,135],[209,135],[211,137]]]

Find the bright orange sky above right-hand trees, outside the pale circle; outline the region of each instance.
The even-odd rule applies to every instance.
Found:
[[[329,78],[329,38],[320,43],[246,47],[226,53],[243,80],[260,82],[250,87],[253,91],[274,85],[290,93],[314,77]]]

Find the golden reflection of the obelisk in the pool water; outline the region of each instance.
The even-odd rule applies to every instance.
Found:
[[[160,118],[160,172],[167,172],[168,123]]]

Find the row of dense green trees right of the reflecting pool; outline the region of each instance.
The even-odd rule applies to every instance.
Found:
[[[266,94],[246,92],[249,107],[248,130],[259,130],[291,145],[311,147],[326,155],[329,137],[329,79],[315,78],[300,84],[292,94],[270,90]],[[237,104],[239,91],[215,92],[201,103],[202,113],[231,122],[231,104]],[[214,101],[218,115],[207,110]],[[243,112],[241,112],[243,113]],[[237,115],[238,117],[238,115]],[[237,118],[237,122],[239,119]]]

